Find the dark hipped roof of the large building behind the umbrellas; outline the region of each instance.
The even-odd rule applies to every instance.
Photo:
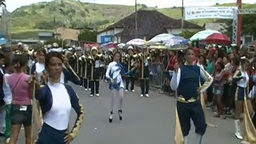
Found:
[[[124,30],[117,35],[135,35],[135,15],[135,13],[130,14],[126,18],[122,18],[99,33],[106,30],[112,30],[114,28],[123,28]],[[167,32],[167,28],[182,28],[182,20],[170,18],[157,10],[138,10],[138,35],[162,34]],[[184,21],[183,28],[202,29],[202,26]]]

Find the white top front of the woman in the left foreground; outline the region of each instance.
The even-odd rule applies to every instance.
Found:
[[[53,103],[50,111],[43,117],[43,120],[47,125],[56,130],[66,130],[71,111],[70,95],[62,83],[55,83],[53,85],[48,83],[48,86],[53,97]]]

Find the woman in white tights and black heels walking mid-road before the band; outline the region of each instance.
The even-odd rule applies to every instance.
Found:
[[[118,99],[118,115],[119,120],[122,121],[122,101],[123,101],[123,89],[122,76],[126,75],[125,70],[120,63],[121,54],[117,51],[114,53],[114,61],[110,62],[106,70],[106,78],[110,79],[109,89],[112,91],[111,97],[111,111],[110,111],[110,123],[113,120],[114,101]],[[134,67],[135,69],[135,67]],[[132,69],[132,70],[134,70]],[[132,71],[130,70],[130,71]]]

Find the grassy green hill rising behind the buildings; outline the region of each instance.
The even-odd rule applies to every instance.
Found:
[[[218,6],[234,6],[234,3]],[[244,7],[255,7],[256,4],[244,4]],[[139,5],[138,9],[153,10],[146,5]],[[182,9],[158,9],[162,14],[171,18],[181,18]],[[11,13],[12,38],[34,38],[38,31],[51,31],[54,27],[63,24],[71,28],[90,27],[102,30],[106,26],[117,22],[134,12],[134,6],[102,5],[79,2],[74,0],[54,0],[52,2],[39,2],[30,6],[22,6]],[[198,25],[212,22],[212,19],[191,21]]]

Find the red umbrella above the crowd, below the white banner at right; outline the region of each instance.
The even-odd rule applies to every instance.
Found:
[[[212,44],[230,44],[230,38],[226,36],[225,34],[210,34],[206,38],[207,43],[212,43]]]

